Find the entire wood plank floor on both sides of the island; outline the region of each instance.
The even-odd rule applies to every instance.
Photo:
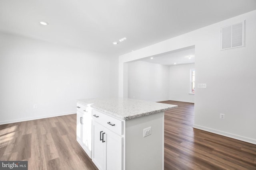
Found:
[[[194,104],[166,101],[165,170],[256,170],[256,145],[193,129]],[[0,125],[0,160],[29,170],[97,170],[76,142],[76,114]]]

